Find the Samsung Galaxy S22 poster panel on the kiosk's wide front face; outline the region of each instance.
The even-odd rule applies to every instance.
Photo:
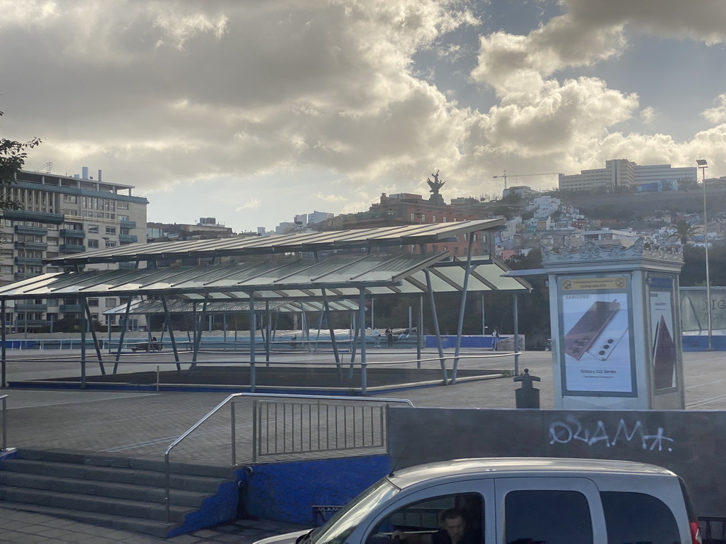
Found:
[[[562,277],[558,288],[565,394],[635,395],[629,277]]]

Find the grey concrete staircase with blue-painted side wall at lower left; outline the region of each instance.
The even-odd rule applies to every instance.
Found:
[[[237,517],[232,468],[171,463],[166,523],[163,461],[18,450],[0,461],[0,505],[173,537]]]

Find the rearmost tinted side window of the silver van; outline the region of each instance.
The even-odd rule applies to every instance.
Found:
[[[608,529],[608,544],[680,542],[678,523],[660,499],[645,493],[600,493]]]

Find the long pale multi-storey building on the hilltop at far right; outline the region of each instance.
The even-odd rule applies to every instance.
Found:
[[[563,191],[591,191],[637,187],[656,181],[686,179],[697,181],[697,168],[672,168],[671,165],[637,165],[627,159],[605,161],[605,168],[581,170],[579,174],[560,174],[559,186]]]

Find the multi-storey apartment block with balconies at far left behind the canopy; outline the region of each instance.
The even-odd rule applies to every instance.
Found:
[[[0,219],[0,284],[59,272],[44,259],[146,240],[148,201],[132,194],[134,186],[106,183],[88,175],[58,176],[21,170],[4,189],[20,210],[2,210]],[[126,263],[123,263],[123,267]],[[131,263],[133,265],[133,263]],[[118,264],[89,265],[92,270]],[[121,303],[117,297],[89,298],[91,316],[105,323],[102,312]],[[77,299],[19,300],[6,309],[9,331],[53,329],[62,318],[80,318]]]

